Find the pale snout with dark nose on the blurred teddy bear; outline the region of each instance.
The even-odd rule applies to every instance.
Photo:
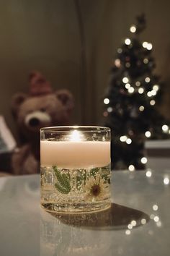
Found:
[[[50,125],[50,121],[50,115],[42,111],[34,111],[25,117],[25,124],[29,129],[39,129],[40,127]]]

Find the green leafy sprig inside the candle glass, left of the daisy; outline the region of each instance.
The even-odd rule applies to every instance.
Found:
[[[70,176],[68,174],[61,174],[57,166],[53,166],[53,170],[58,181],[55,183],[55,188],[61,194],[68,194],[71,191]]]

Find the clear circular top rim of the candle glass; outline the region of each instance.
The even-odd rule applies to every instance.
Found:
[[[72,129],[78,129],[82,132],[110,132],[109,127],[90,126],[90,125],[65,125],[55,127],[42,127],[40,132],[69,132]]]

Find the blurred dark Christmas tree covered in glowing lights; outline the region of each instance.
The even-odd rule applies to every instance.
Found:
[[[130,37],[117,49],[111,79],[104,98],[104,124],[112,130],[112,168],[143,169],[147,162],[146,139],[169,137],[169,122],[156,105],[161,101],[160,77],[152,44],[140,41],[146,28],[145,15],[130,27]]]

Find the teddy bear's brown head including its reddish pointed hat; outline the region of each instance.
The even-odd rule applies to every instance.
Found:
[[[12,113],[22,137],[35,140],[40,128],[67,125],[73,108],[68,90],[52,91],[50,83],[39,72],[30,74],[30,93],[12,98]]]

